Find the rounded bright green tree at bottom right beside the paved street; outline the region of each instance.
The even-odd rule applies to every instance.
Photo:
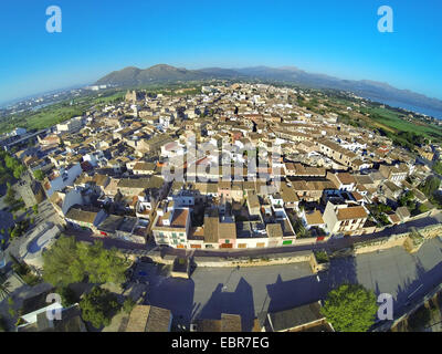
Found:
[[[328,293],[322,313],[338,332],[366,332],[375,323],[377,309],[372,291],[341,284]]]

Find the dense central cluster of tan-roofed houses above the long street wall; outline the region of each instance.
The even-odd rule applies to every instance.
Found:
[[[15,153],[32,177],[19,192],[29,205],[48,197],[67,227],[183,249],[294,244],[303,230],[370,233],[380,226],[373,204],[391,206],[392,225],[411,217],[398,204],[408,190],[434,209],[417,189],[428,167],[387,137],[298,106],[298,97],[309,100],[264,84],[191,96],[129,91]]]

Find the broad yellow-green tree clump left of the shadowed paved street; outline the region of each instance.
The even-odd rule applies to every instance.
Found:
[[[76,242],[74,237],[60,237],[43,253],[43,279],[54,285],[69,285],[87,280],[91,283],[125,281],[128,261],[115,249],[106,250],[103,242],[90,246]]]

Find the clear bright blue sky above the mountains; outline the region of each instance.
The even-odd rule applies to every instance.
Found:
[[[62,33],[45,10],[62,9]],[[380,33],[390,6],[394,32]],[[2,0],[0,102],[125,66],[285,66],[442,100],[442,1]]]

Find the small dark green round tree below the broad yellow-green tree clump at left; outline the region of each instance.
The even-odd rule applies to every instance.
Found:
[[[115,294],[99,287],[94,287],[92,291],[80,301],[82,317],[84,321],[99,329],[109,325],[110,320],[119,305]]]

